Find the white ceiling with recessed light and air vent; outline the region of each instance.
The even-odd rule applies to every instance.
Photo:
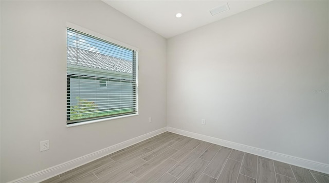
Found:
[[[112,1],[106,4],[163,37],[170,38],[270,1]],[[212,16],[209,10],[228,3],[230,10]],[[182,17],[176,18],[176,13]]]

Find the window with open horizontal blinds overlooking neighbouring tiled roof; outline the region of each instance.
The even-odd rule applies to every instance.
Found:
[[[67,28],[67,125],[138,114],[137,53]]]

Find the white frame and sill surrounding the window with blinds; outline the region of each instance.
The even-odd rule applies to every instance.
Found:
[[[84,28],[84,27],[81,27],[81,26],[78,26],[76,24],[73,24],[73,23],[70,23],[70,22],[66,22],[66,27],[65,27],[65,31],[67,30],[67,28],[70,28],[70,29],[74,29],[74,30],[77,30],[79,32],[83,32],[85,34],[89,34],[91,36],[94,36],[94,37],[97,37],[97,38],[100,38],[100,39],[103,39],[103,40],[106,40],[107,42],[110,42],[110,43],[113,43],[113,44],[116,44],[116,45],[120,45],[122,47],[125,47],[125,48],[128,48],[128,49],[131,49],[131,50],[134,50],[135,51],[135,54],[136,54],[136,58],[135,58],[135,77],[136,77],[136,88],[135,88],[135,94],[136,94],[136,113],[135,114],[127,114],[127,115],[122,115],[122,116],[115,116],[115,117],[107,117],[107,118],[101,118],[101,119],[91,119],[91,120],[88,120],[88,121],[83,121],[83,122],[79,122],[79,123],[75,123],[75,124],[66,124],[66,127],[74,127],[74,126],[80,126],[80,125],[86,125],[86,124],[92,124],[92,123],[98,123],[98,122],[101,122],[101,121],[107,121],[107,120],[113,120],[113,119],[119,119],[119,118],[124,118],[124,117],[131,117],[131,116],[137,116],[139,115],[138,113],[138,107],[139,107],[139,103],[138,103],[138,52],[139,52],[139,49],[136,48],[136,47],[133,47],[131,45],[128,45],[128,44],[125,44],[123,42],[120,42],[119,40],[116,40],[114,38],[111,38],[111,37],[108,37],[108,36],[105,36],[103,34],[100,34],[100,33],[97,33],[97,32],[94,32],[92,30],[89,30],[87,28]],[[67,45],[65,44],[65,47]],[[107,82],[106,82],[106,86],[107,86]]]

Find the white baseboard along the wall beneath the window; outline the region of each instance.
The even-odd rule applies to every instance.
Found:
[[[48,169],[27,175],[25,177],[21,177],[15,180],[12,180],[8,183],[16,183],[16,182],[40,182],[43,180],[46,180],[48,178],[51,178],[53,176],[59,175],[61,173],[64,173],[68,170],[80,167],[81,165],[87,164],[90,161],[96,160],[98,158],[101,158],[103,156],[106,156],[108,154],[114,153],[116,151],[119,151],[123,148],[129,147],[131,145],[134,145],[136,143],[139,143],[140,141],[143,141],[145,139],[151,138],[155,135],[158,135],[160,133],[166,132],[167,128],[161,128],[158,130],[155,130],[153,132],[140,135],[138,137],[123,141],[122,143],[104,148],[102,150],[78,157],[76,159],[69,160],[67,162],[64,162],[63,164],[56,165],[53,167],[50,167]]]

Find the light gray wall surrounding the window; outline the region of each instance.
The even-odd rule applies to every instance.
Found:
[[[138,116],[66,127],[66,21],[139,48]],[[0,182],[167,126],[165,38],[101,1],[1,1],[1,25]]]

